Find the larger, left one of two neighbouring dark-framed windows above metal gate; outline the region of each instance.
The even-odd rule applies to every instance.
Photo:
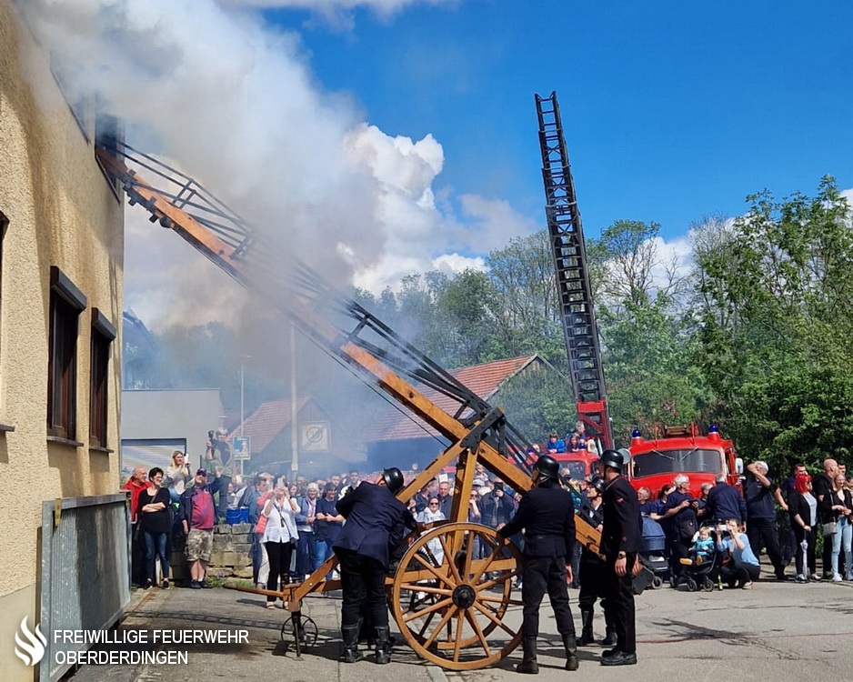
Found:
[[[58,267],[50,268],[50,337],[47,362],[47,433],[76,436],[77,318],[85,296]]]

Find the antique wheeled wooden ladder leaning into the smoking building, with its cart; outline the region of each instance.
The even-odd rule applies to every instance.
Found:
[[[475,669],[506,657],[521,638],[520,630],[504,623],[507,608],[520,605],[511,595],[520,555],[494,529],[467,522],[467,501],[477,463],[514,489],[529,490],[524,437],[498,407],[490,406],[308,266],[282,254],[268,236],[248,226],[192,178],[129,145],[99,148],[98,158],[106,173],[124,188],[130,204],[144,206],[152,222],[184,237],[228,275],[286,314],[317,346],[382,388],[449,441],[447,449],[397,495],[409,500],[457,460],[451,518],[411,542],[395,575],[386,580],[389,604],[406,641],[437,665]],[[156,178],[156,185],[146,182],[139,171]],[[456,411],[451,414],[436,406],[415,385],[452,397]],[[580,517],[577,537],[597,551],[597,529]],[[441,560],[430,549],[433,540],[442,547]],[[477,546],[487,551],[475,557]],[[282,637],[294,637],[297,656],[303,646],[316,640],[316,625],[302,613],[303,599],[312,592],[339,587],[338,581],[326,580],[335,566],[336,559],[330,558],[305,582],[283,586],[281,592],[246,589],[287,602],[291,615],[282,627]]]

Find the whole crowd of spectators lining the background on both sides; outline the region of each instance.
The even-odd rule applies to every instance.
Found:
[[[549,434],[532,448],[532,454],[579,449],[597,452],[596,441],[585,436],[580,422],[565,438]],[[381,475],[352,470],[310,480],[267,472],[226,476],[226,472],[231,474],[230,468],[221,466],[216,456],[211,461],[209,451],[205,464],[194,471],[185,454],[176,451],[166,471],[155,467],[146,472],[136,467],[125,484],[132,496],[135,585],[155,585],[154,561],[159,556],[166,578],[162,587],[168,587],[168,537],[183,532],[192,587],[206,587],[212,528],[217,521],[224,522],[230,511],[236,512],[235,519],[253,527],[253,580],[257,587],[276,590],[280,580],[304,580],[333,554],[344,523],[336,511],[337,501],[363,480],[376,480]],[[657,496],[645,487],[638,489],[642,513],[659,523],[667,538],[673,585],[687,577],[687,566],[697,557],[707,558],[712,534],[717,540],[715,551],[727,557],[725,576],[739,587],[752,587],[762,549],[779,580],[788,579],[785,569],[792,559],[796,581],[820,579],[818,537],[823,538],[823,577],[836,582],[853,580],[853,476],[847,475],[846,467],[827,459],[823,471],[810,476],[798,463],[781,485],[768,476],[765,462],[754,462],[747,470],[742,486],[729,485],[727,477],[721,475],[714,484],[703,483],[696,496],[686,474],[674,476]],[[404,472],[406,480],[412,480],[416,473]],[[589,505],[589,481],[571,478],[570,469],[563,474],[576,511],[581,512]],[[450,519],[454,483],[455,476],[442,474],[418,491],[409,502],[416,518],[424,523]],[[467,520],[500,529],[514,516],[520,499],[518,491],[508,489],[500,478],[477,466],[467,501]],[[523,537],[514,539],[518,544],[523,542]],[[440,561],[440,545],[431,549]],[[572,557],[576,581],[572,587],[579,587],[580,549],[578,544],[577,556]],[[474,551],[479,558],[488,548],[475,547]],[[336,575],[329,571],[327,577]]]

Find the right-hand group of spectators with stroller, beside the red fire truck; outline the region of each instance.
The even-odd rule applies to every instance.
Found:
[[[647,488],[637,496],[644,516],[660,524],[667,537],[667,557],[674,587],[687,579],[697,557],[707,558],[709,547],[697,540],[718,538],[722,582],[749,589],[760,571],[762,549],[778,580],[788,580],[793,560],[798,583],[828,579],[853,581],[853,476],[846,466],[826,459],[816,476],[798,462],[792,475],[778,485],[768,476],[766,462],[747,466],[740,489],[717,476],[693,496],[690,478],[675,476],[661,487],[657,499]],[[818,538],[823,543],[818,574]]]

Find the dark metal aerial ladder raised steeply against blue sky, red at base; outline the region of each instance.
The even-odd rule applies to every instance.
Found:
[[[548,236],[557,275],[560,321],[566,341],[569,373],[577,404],[577,416],[587,434],[613,446],[607,409],[604,370],[598,326],[587,270],[587,249],[575,195],[575,180],[568,163],[566,140],[557,93],[536,95],[539,148],[545,183]]]

